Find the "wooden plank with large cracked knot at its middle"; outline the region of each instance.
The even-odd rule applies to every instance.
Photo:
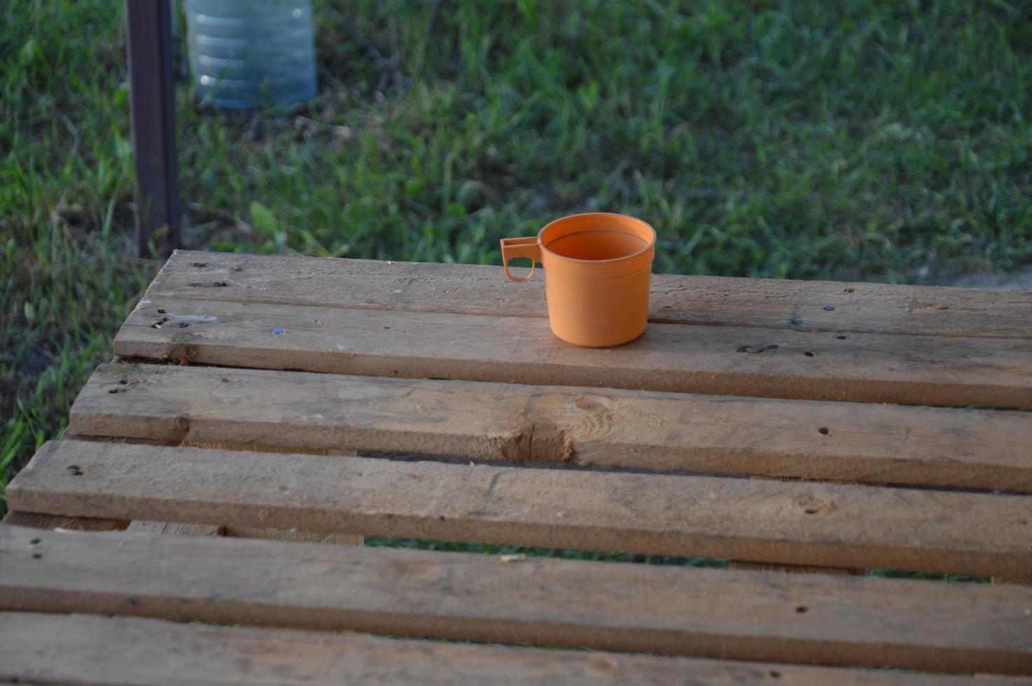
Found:
[[[168,365],[101,365],[69,436],[1032,491],[1032,415]]]

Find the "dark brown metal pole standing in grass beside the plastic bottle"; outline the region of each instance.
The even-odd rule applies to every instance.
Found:
[[[180,247],[169,0],[126,0],[126,45],[133,161],[136,167],[136,253],[150,257]]]

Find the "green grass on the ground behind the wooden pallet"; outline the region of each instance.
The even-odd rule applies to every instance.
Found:
[[[317,2],[321,95],[181,86],[191,248],[497,262],[616,210],[660,271],[930,283],[1032,262],[1032,22],[1003,0]],[[0,487],[157,269],[129,252],[119,2],[0,8]],[[0,505],[2,507],[2,505]]]

